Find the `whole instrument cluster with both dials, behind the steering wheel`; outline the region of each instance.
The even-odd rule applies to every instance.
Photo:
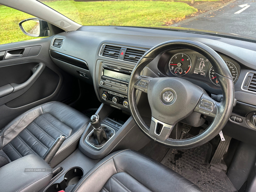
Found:
[[[225,55],[220,55],[227,64],[236,83],[239,73],[239,64]],[[159,62],[166,60],[164,70],[167,76],[184,76],[191,79],[210,82],[213,86],[220,87],[214,68],[207,58],[191,50],[176,50],[164,53]]]

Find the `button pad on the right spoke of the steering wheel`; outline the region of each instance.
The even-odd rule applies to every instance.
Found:
[[[203,115],[215,117],[218,112],[218,104],[213,100],[210,96],[208,96],[206,93],[204,93],[198,104],[196,105],[194,111],[201,113]]]

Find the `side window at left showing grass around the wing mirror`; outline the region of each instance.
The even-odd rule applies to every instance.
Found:
[[[34,16],[0,5],[0,44],[37,38],[25,35],[19,27],[20,21],[31,17]]]

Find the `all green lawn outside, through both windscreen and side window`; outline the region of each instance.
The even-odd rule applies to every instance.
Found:
[[[81,25],[166,26],[183,20],[197,9],[170,1],[94,1],[56,0],[44,2]],[[18,23],[32,15],[0,6],[0,44],[34,39],[21,32]]]

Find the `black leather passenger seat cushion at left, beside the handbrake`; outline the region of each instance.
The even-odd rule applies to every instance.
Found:
[[[66,140],[53,157],[55,167],[76,150],[89,118],[61,102],[49,102],[18,116],[0,132],[0,167],[36,154],[43,157],[60,135]]]

